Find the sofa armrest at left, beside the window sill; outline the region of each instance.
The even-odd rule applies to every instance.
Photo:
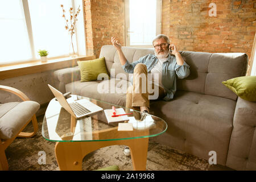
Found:
[[[65,93],[65,85],[69,82],[81,80],[79,67],[59,69],[54,72],[55,86],[60,92]]]

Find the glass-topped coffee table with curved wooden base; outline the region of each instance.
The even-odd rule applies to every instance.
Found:
[[[75,95],[71,95],[67,101],[71,103],[83,98],[104,110],[112,109],[112,106],[122,107]],[[60,170],[82,170],[84,156],[99,148],[112,145],[129,146],[133,169],[146,170],[148,138],[163,134],[167,129],[167,123],[154,115],[147,115],[141,121],[137,117],[140,112],[122,108],[126,112],[133,113],[127,115],[128,119],[122,122],[108,123],[104,110],[76,119],[53,98],[44,115],[42,135],[45,139],[56,142],[55,155]],[[119,123],[131,123],[129,126],[132,127],[120,131],[120,125],[123,124]]]

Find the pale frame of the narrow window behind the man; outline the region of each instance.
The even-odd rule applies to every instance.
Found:
[[[154,48],[152,44],[148,45],[130,45],[130,0],[125,0],[125,46],[127,47],[141,47]],[[156,0],[156,35],[161,34],[162,31],[162,0]]]

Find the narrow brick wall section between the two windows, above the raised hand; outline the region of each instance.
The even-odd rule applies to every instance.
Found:
[[[86,51],[100,55],[101,47],[110,45],[111,36],[124,43],[125,3],[122,0],[84,0]]]

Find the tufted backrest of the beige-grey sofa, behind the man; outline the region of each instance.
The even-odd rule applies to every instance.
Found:
[[[154,54],[153,48],[122,47],[123,54],[129,63],[137,61],[140,57]],[[237,95],[222,84],[222,81],[230,78],[245,76],[248,64],[246,53],[207,53],[180,51],[186,63],[190,66],[191,74],[184,79],[177,79],[177,90],[185,90],[237,99]],[[106,67],[114,70],[116,77],[123,73],[128,78],[128,73],[123,71],[119,63],[119,57],[114,46],[102,46],[100,57],[105,57]],[[128,79],[127,79],[128,80]]]

